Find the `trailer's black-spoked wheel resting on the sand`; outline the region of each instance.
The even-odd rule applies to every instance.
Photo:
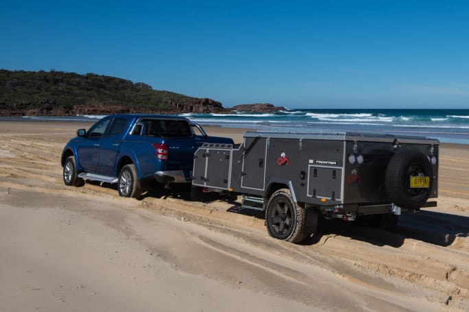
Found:
[[[289,189],[279,189],[268,199],[266,226],[276,239],[299,243],[306,237],[306,211],[293,202]]]

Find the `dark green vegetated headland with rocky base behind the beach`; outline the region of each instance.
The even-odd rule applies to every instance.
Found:
[[[156,91],[142,82],[63,71],[0,69],[0,115],[77,115],[117,112],[220,112],[212,99]]]

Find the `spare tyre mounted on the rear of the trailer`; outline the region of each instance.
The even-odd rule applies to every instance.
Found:
[[[413,176],[430,177],[430,187],[411,189],[410,182]],[[428,200],[432,185],[433,170],[424,154],[400,152],[389,161],[385,174],[385,187],[393,204],[405,209],[419,209]]]

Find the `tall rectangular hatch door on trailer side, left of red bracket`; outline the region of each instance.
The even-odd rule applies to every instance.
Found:
[[[241,187],[264,190],[267,140],[259,136],[244,138]]]

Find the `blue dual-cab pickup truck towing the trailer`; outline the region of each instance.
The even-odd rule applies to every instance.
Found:
[[[233,144],[207,136],[189,119],[171,115],[121,114],[104,117],[65,145],[63,180],[81,186],[84,180],[117,183],[119,195],[141,196],[147,180],[162,186],[192,182],[194,152],[203,143]]]

